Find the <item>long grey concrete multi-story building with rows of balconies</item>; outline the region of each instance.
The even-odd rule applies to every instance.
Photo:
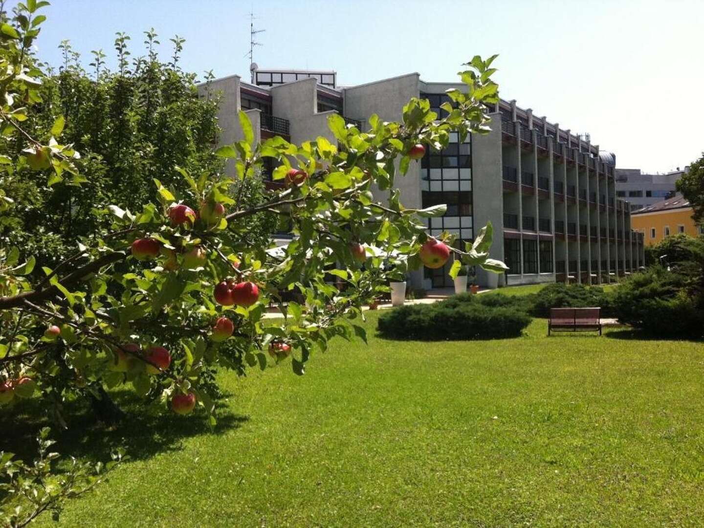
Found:
[[[290,75],[296,80],[285,81]],[[266,86],[237,75],[210,82],[210,90],[222,92],[223,144],[241,139],[240,108],[251,119],[256,141],[272,134],[294,143],[318,136],[334,141],[327,127],[331,113],[364,130],[372,113],[401,120],[411,97],[429,99],[443,115],[446,89],[465,89],[461,83],[425,82],[418,73],[352,87],[338,87],[334,72],[321,71],[254,70],[253,80]],[[491,256],[510,269],[505,275],[479,270],[477,282],[601,284],[643,265],[642,235],[631,230],[628,203],[616,199],[615,156],[515,101],[502,99],[489,111],[491,132],[464,143],[451,137],[446,149],[428,151],[420,163],[411,163],[406,177],[396,179],[407,207],[447,204],[443,217],[426,220],[432,235],[448,231],[470,241],[475,229],[491,221]],[[449,265],[415,272],[410,280],[426,289],[449,286]]]

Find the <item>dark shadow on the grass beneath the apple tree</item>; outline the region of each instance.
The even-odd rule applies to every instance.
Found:
[[[35,436],[41,427],[51,427],[56,451],[76,458],[109,460],[113,448],[122,447],[132,460],[144,460],[158,453],[182,449],[182,441],[192,436],[222,434],[238,429],[249,417],[231,413],[222,398],[215,404],[217,424],[211,427],[204,413],[181,416],[163,407],[155,408],[130,390],[111,391],[115,403],[125,411],[118,425],[106,427],[96,421],[87,405],[65,408],[68,429],[61,430],[39,408],[39,401],[24,401],[13,413],[0,417],[3,444],[0,450],[17,453],[18,458],[32,460],[37,453]]]

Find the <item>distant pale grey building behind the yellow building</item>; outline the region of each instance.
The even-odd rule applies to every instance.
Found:
[[[643,174],[640,169],[616,169],[616,196],[628,199],[631,210],[652,206],[674,194],[674,184],[686,170]]]

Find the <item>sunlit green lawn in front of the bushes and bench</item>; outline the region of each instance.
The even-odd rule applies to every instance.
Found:
[[[223,375],[214,432],[147,415],[75,433],[80,453],[127,436],[134,460],[61,526],[701,522],[701,344],[547,338],[545,320],[520,339],[386,341],[376,318],[370,346],[335,341],[304,377]]]

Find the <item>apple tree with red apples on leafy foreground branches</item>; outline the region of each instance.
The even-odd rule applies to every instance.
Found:
[[[4,210],[22,206],[6,183],[27,165],[47,184],[57,174],[86,184],[74,146],[61,142],[61,115],[41,136],[23,128],[39,102],[41,75],[24,50],[37,36],[43,15],[35,13],[44,4],[19,4],[1,26],[0,133],[5,145],[18,137],[25,145],[0,152]],[[420,220],[443,215],[444,206],[405,208],[394,185],[426,149],[443,149],[451,132],[464,140],[486,130],[485,103],[498,98],[493,60],[476,56],[465,65],[466,89],[448,91],[453,103],[445,118],[422,99],[404,106],[401,122],[372,115],[365,132],[332,115],[336,143],[274,137],[254,144],[240,113],[244,139],[214,153],[234,160],[234,181],[175,166],[183,186],[154,180],[156,200],[96,210],[108,222],[52,268],[35,268],[21,247],[0,248],[1,412],[35,398],[68,427],[63,403],[84,399],[102,420],[114,420],[120,410],[111,389],[126,386],[152,406],[195,410],[215,423],[218,369],[244,373],[280,363],[303,375],[333,337],[365,339],[356,323],[362,306],[398,274],[424,262],[440,267],[451,252],[503,272],[488,255],[491,225],[465,251],[452,247],[449,234],[430,239]],[[256,178],[267,158],[284,186],[252,204],[237,183]],[[372,186],[389,191],[388,199],[375,199]],[[289,220],[294,237],[287,246],[249,237],[248,220],[262,212]],[[274,307],[283,318],[266,317]]]

